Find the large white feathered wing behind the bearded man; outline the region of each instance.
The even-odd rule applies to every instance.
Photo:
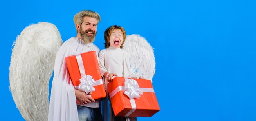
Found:
[[[9,68],[10,89],[17,108],[27,121],[48,118],[49,79],[61,44],[58,29],[47,22],[26,27],[16,38]]]

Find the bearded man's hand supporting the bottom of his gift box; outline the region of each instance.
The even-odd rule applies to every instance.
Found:
[[[94,99],[92,99],[92,97],[90,97],[89,95],[91,95],[92,93],[88,93],[86,94],[86,92],[82,91],[82,90],[76,90],[75,89],[75,95],[76,95],[76,99],[82,104],[88,104],[91,103],[92,101],[95,102]]]

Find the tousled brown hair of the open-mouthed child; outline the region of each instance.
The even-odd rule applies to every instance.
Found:
[[[114,31],[114,29],[120,29],[122,31],[122,33],[123,33],[124,41],[126,39],[126,32],[125,32],[123,27],[117,26],[117,25],[110,26],[104,32],[105,48],[109,48],[110,47],[109,39],[110,39],[110,35],[111,35],[112,31]],[[123,43],[120,46],[121,49],[123,48],[124,41],[123,41]]]

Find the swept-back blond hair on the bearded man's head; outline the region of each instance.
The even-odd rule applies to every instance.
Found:
[[[76,15],[74,16],[75,26],[77,24],[81,26],[81,24],[83,23],[83,18],[85,16],[96,18],[97,24],[101,21],[101,17],[99,16],[99,13],[96,13],[91,10],[83,10],[83,11],[80,11],[79,13],[76,13]],[[76,27],[76,32],[78,32],[77,27]]]

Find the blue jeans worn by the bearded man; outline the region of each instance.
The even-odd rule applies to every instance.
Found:
[[[79,121],[103,121],[101,108],[90,108],[79,105],[76,106]]]

